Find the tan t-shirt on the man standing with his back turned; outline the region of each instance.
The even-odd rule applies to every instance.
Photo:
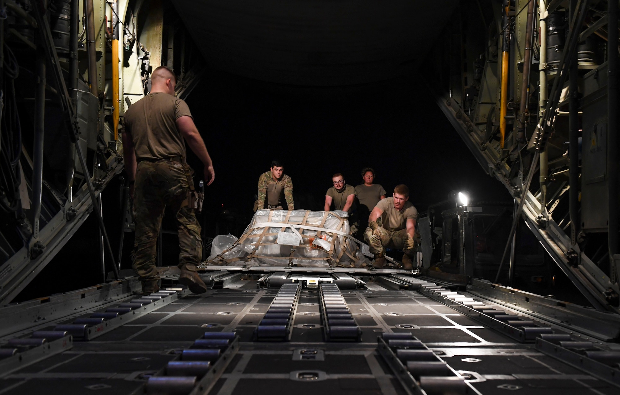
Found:
[[[136,160],[185,158],[185,142],[177,118],[192,116],[182,99],[162,92],[139,99],[125,111],[125,127],[131,135]]]

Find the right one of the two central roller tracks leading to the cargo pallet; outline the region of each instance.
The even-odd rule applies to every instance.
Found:
[[[319,301],[326,341],[361,340],[361,329],[353,319],[347,302],[336,284],[321,284]]]

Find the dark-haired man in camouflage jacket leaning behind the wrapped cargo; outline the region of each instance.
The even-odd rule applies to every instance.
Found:
[[[284,174],[284,166],[279,160],[273,160],[270,171],[259,177],[259,194],[254,204],[254,211],[263,208],[282,210],[282,196],[286,199],[289,210],[294,210],[293,180]]]

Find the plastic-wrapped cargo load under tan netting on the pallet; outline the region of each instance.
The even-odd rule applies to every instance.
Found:
[[[279,232],[298,238],[299,245],[278,243]],[[347,236],[349,232],[347,212],[343,211],[259,210],[238,240],[232,235],[216,237],[206,263],[228,266],[363,266],[368,260],[361,255],[358,243]],[[313,243],[317,238],[324,242],[320,242],[321,245]]]

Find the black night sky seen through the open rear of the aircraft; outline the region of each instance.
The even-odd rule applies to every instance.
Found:
[[[259,175],[273,158],[285,163],[299,209],[322,210],[332,174],[355,186],[365,166],[388,196],[407,184],[419,211],[452,189],[470,191],[474,200],[510,201],[415,80],[310,92],[213,73],[187,103],[216,171],[207,207],[224,204],[251,216]]]

